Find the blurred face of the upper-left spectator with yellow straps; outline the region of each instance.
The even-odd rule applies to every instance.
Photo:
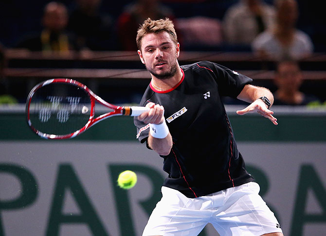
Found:
[[[63,4],[50,2],[44,11],[43,25],[53,32],[60,32],[68,24],[68,12]]]

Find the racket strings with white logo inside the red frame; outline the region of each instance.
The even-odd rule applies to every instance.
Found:
[[[29,118],[32,126],[48,135],[69,135],[90,119],[91,100],[83,89],[71,84],[47,84],[33,95]]]

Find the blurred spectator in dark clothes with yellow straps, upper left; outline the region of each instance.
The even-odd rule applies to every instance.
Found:
[[[44,8],[42,17],[43,31],[22,40],[18,44],[18,48],[44,52],[76,50],[77,47],[72,36],[65,32],[67,24],[68,12],[66,6],[52,1]]]

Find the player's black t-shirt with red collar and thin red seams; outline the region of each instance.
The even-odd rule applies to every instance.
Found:
[[[212,62],[181,66],[179,84],[158,91],[148,85],[141,106],[164,107],[172,135],[171,152],[162,156],[164,186],[196,198],[254,179],[245,169],[221,96],[236,98],[252,79]],[[137,138],[147,140],[149,125],[134,119]]]

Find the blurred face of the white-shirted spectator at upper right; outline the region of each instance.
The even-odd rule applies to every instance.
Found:
[[[279,0],[277,20],[284,27],[293,27],[298,18],[298,4],[295,0]]]

